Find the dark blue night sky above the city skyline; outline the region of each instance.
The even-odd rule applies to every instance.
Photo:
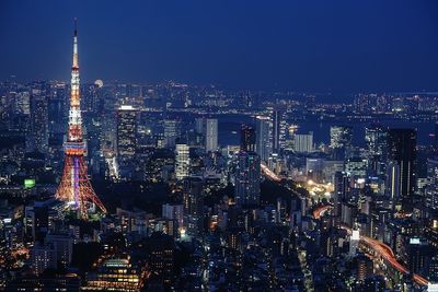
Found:
[[[436,0],[1,0],[0,78],[438,90]]]

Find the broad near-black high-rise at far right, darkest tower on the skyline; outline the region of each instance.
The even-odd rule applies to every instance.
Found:
[[[416,140],[415,129],[390,129],[388,132],[388,161],[400,167],[400,196],[407,201],[415,190]]]

